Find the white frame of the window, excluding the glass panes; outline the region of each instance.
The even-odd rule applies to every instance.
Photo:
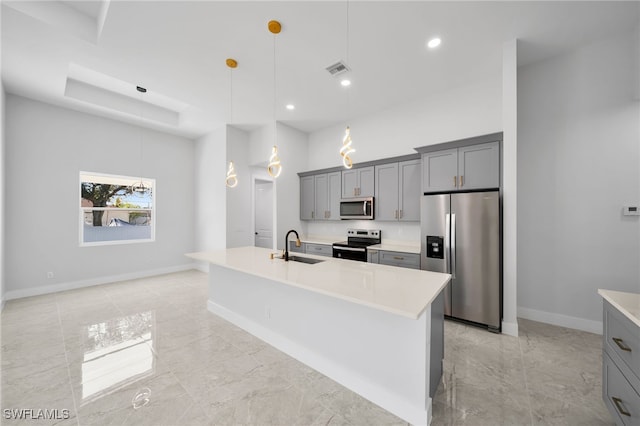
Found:
[[[86,177],[87,176],[92,176],[92,177],[105,177],[105,178],[112,178],[112,179],[118,179],[118,180],[126,180],[126,181],[130,181],[131,184],[134,184],[136,182],[140,182],[140,181],[144,181],[145,184],[146,183],[150,183],[150,187],[151,187],[151,193],[152,193],[152,197],[151,197],[151,207],[150,208],[145,208],[145,209],[139,209],[140,211],[148,211],[150,213],[151,216],[151,224],[149,225],[151,227],[151,237],[150,238],[144,238],[144,239],[130,239],[130,240],[107,240],[107,241],[90,241],[90,242],[85,242],[84,241],[84,214],[85,214],[85,210],[89,209],[89,207],[83,207],[82,206],[82,190],[81,190],[81,185],[82,182],[87,182]],[[156,187],[156,180],[154,178],[146,178],[146,177],[135,177],[135,176],[127,176],[127,175],[115,175],[115,174],[111,174],[111,173],[99,173],[99,172],[87,172],[87,171],[80,171],[78,172],[78,186],[76,187],[76,190],[78,191],[78,204],[77,204],[77,208],[78,208],[78,212],[79,212],[79,216],[78,216],[78,243],[80,245],[80,247],[96,247],[96,246],[112,246],[112,245],[123,245],[123,244],[138,244],[138,243],[153,243],[156,240],[156,218],[157,218],[157,213],[156,213],[156,203],[157,203],[157,187]],[[118,208],[118,207],[90,207],[90,209],[94,210],[94,209],[100,209],[100,210],[104,210],[104,211],[115,211],[115,210],[124,210],[122,208]]]

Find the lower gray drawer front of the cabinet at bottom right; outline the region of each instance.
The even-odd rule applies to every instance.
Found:
[[[640,395],[606,352],[602,354],[602,372],[602,397],[616,424],[640,425]]]

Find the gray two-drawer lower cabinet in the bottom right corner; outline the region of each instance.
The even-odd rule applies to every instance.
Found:
[[[617,425],[640,425],[640,327],[606,300],[602,398]]]

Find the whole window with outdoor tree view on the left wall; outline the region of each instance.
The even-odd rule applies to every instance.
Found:
[[[155,240],[155,179],[80,172],[80,245]]]

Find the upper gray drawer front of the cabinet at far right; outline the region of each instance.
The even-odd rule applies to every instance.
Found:
[[[640,380],[640,327],[633,324],[609,302],[605,301],[604,308],[606,350],[620,357],[636,376],[632,382],[637,382]]]

